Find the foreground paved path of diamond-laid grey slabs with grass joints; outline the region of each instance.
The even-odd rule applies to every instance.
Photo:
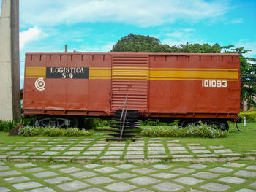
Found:
[[[0,161],[0,191],[256,191],[255,161],[45,164]]]

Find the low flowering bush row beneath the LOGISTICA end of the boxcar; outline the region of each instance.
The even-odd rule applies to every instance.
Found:
[[[55,128],[55,127],[34,127],[34,126],[26,126],[20,128],[19,134],[29,137],[36,135],[45,135],[45,136],[90,136],[94,132],[86,131],[84,129],[80,130],[78,128]]]

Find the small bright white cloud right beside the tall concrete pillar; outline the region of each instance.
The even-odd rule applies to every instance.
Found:
[[[45,36],[46,34],[44,34],[39,28],[29,28],[26,31],[20,32],[20,50],[23,49],[26,43],[42,39],[42,37]]]

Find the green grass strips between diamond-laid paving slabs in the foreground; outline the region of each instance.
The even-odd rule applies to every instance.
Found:
[[[172,177],[171,179],[165,179],[165,178],[159,178],[159,177],[155,177],[155,176],[151,176],[151,174],[157,174],[157,173],[162,173],[162,172],[165,172],[165,173],[175,173],[175,172],[172,172],[174,169],[177,169],[177,168],[188,168],[188,169],[191,169],[189,168],[188,166],[191,165],[190,163],[161,163],[161,164],[166,164],[166,165],[170,165],[171,167],[170,168],[167,168],[167,169],[157,169],[157,168],[154,168],[152,167],[152,165],[154,164],[159,164],[159,163],[154,163],[154,164],[133,164],[137,167],[135,168],[129,168],[129,169],[120,169],[120,168],[117,168],[116,166],[118,166],[119,164],[115,164],[115,163],[109,163],[109,164],[101,164],[101,163],[97,163],[101,166],[99,166],[98,168],[102,168],[102,167],[105,167],[105,166],[110,166],[110,167],[114,167],[116,169],[118,169],[116,172],[111,172],[111,173],[100,173],[100,172],[97,172],[95,171],[94,169],[89,169],[89,168],[85,168],[83,167],[83,165],[85,164],[72,164],[72,163],[67,163],[66,164],[66,167],[62,167],[62,168],[57,168],[57,169],[52,169],[52,168],[49,168],[48,167],[48,163],[34,163],[33,164],[36,164],[37,167],[42,167],[45,169],[45,171],[51,171],[51,172],[55,172],[57,174],[59,174],[59,176],[55,176],[55,177],[69,177],[71,178],[72,180],[78,180],[80,182],[83,182],[83,183],[86,183],[86,184],[89,184],[91,185],[90,187],[87,187],[87,188],[100,188],[104,191],[108,191],[110,192],[110,190],[108,190],[107,188],[105,188],[105,186],[111,184],[111,183],[117,183],[117,182],[124,182],[124,183],[129,183],[130,185],[136,185],[138,188],[148,188],[148,190],[154,190],[154,191],[157,191],[156,189],[152,188],[153,185],[156,185],[158,183],[154,183],[154,184],[150,184],[150,185],[139,185],[139,184],[134,184],[132,183],[131,181],[129,181],[130,179],[132,178],[135,178],[135,177],[142,177],[142,176],[148,176],[148,177],[152,177],[154,179],[157,179],[157,180],[161,180],[161,183],[163,182],[171,182],[171,183],[175,183],[177,185],[182,185],[184,186],[184,188],[182,188],[180,191],[190,191],[190,189],[197,189],[197,190],[200,190],[200,191],[205,191],[203,190],[202,188],[200,188],[201,185],[205,185],[206,183],[210,183],[210,182],[217,182],[217,183],[221,183],[221,184],[225,184],[225,185],[229,185],[230,186],[230,189],[228,189],[227,191],[228,192],[231,192],[231,191],[237,191],[241,188],[250,188],[250,189],[254,189],[252,187],[249,187],[249,184],[253,183],[255,181],[255,177],[241,177],[241,178],[244,178],[246,179],[246,181],[244,183],[241,183],[241,184],[233,184],[233,183],[224,183],[224,182],[221,182],[221,181],[218,181],[219,178],[222,178],[222,177],[227,177],[227,176],[231,176],[231,177],[239,177],[239,176],[235,176],[233,175],[233,173],[237,172],[238,170],[241,170],[241,169],[244,169],[247,167],[247,166],[250,166],[250,165],[255,165],[255,162],[254,161],[233,161],[233,162],[236,162],[236,163],[240,163],[240,164],[245,164],[243,167],[241,168],[231,168],[233,169],[233,171],[231,172],[227,172],[227,173],[222,173],[222,174],[219,174],[219,176],[217,177],[214,177],[214,178],[211,178],[211,179],[206,179],[206,178],[203,178],[203,182],[202,183],[197,183],[195,185],[185,185],[185,184],[181,184],[181,183],[178,183],[176,181],[174,181],[176,178],[179,178],[179,177],[194,177],[192,176],[192,174],[195,174],[197,172],[211,172],[209,171],[209,169],[212,169],[214,167],[217,167],[217,166],[222,166],[222,167],[225,167],[223,166],[223,164],[226,164],[224,162],[222,163],[202,163],[204,165],[208,165],[208,167],[204,168],[204,169],[195,169],[195,172],[192,172],[192,173],[188,173],[188,174],[178,174],[177,176],[175,177]],[[15,164],[19,164],[17,162],[5,162],[4,164],[6,164],[7,166],[10,166],[10,168],[12,170],[17,170],[18,172],[20,172],[21,174],[18,175],[18,176],[24,176],[24,177],[29,177],[31,179],[31,181],[35,181],[35,182],[38,182],[38,183],[41,183],[49,188],[52,188],[53,190],[55,191],[61,191],[60,188],[57,187],[57,185],[59,185],[60,183],[58,184],[50,184],[50,183],[46,183],[44,180],[45,179],[49,179],[51,177],[47,177],[47,178],[37,178],[37,177],[34,177],[32,174],[33,173],[29,173],[29,172],[26,172],[26,169],[29,169],[29,168],[17,168],[15,167],[14,165]],[[54,164],[54,163],[53,163]],[[90,163],[87,163],[87,164],[90,164]],[[97,174],[96,176],[93,176],[93,177],[99,177],[99,176],[102,176],[102,177],[109,177],[111,179],[113,179],[114,181],[112,181],[111,183],[104,183],[104,184],[92,184],[92,183],[89,183],[87,182],[86,180],[84,180],[85,178],[78,178],[78,177],[74,177],[72,175],[70,175],[69,173],[64,173],[64,172],[61,172],[60,169],[64,169],[64,168],[68,168],[68,167],[77,167],[79,169],[81,169],[80,171],[87,171],[87,172],[94,172],[95,174]],[[95,168],[95,169],[98,169],[98,168]],[[140,168],[148,168],[148,169],[153,169],[155,172],[151,173],[151,174],[140,174],[140,173],[137,173],[137,172],[132,172],[133,169],[140,169]],[[225,167],[225,168],[230,168],[230,167]],[[79,172],[80,172],[79,171]],[[255,171],[252,171],[252,170],[248,170],[248,171],[251,171],[251,172],[255,172]],[[111,176],[111,174],[118,174],[118,173],[122,173],[122,172],[127,172],[127,173],[130,173],[130,174],[135,174],[134,177],[130,177],[128,179],[118,179],[116,177],[113,177]],[[9,176],[9,177],[13,177],[13,176]],[[87,177],[86,179],[89,179],[89,178],[92,178],[92,177]],[[198,178],[198,177],[195,177],[197,179],[202,179],[202,178]],[[159,182],[160,183],[160,182]],[[7,188],[10,188],[12,191],[17,191],[15,190],[14,187],[12,187],[12,183],[7,183],[3,177],[0,177],[0,185],[3,185]],[[87,189],[85,188],[85,189]],[[77,190],[77,191],[81,191],[81,190]],[[76,191],[75,191],[76,192]]]

